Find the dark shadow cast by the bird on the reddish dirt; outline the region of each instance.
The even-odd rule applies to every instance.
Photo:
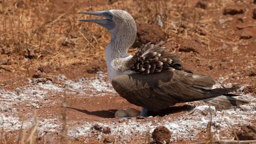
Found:
[[[114,114],[117,110],[115,109],[110,109],[110,110],[100,110],[100,111],[88,111],[88,110],[81,110],[81,109],[76,109],[74,107],[67,107],[68,109],[72,110],[77,110],[79,112],[86,113],[87,115],[94,115],[97,117],[102,117],[102,118],[114,118]],[[148,112],[148,116],[165,116],[165,115],[170,115],[178,112],[183,112],[183,111],[190,111],[195,108],[194,105],[182,105],[182,106],[171,106],[168,107],[167,109],[162,109],[159,112]]]

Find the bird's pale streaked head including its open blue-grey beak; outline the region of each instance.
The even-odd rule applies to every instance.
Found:
[[[118,34],[120,32],[135,31],[136,23],[132,16],[124,10],[102,10],[102,11],[87,11],[79,14],[88,14],[104,17],[105,19],[83,19],[82,22],[94,22],[106,28],[110,34]],[[136,35],[136,34],[135,34]]]

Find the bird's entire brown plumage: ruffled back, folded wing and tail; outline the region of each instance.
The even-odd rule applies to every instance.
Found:
[[[115,77],[112,81],[114,89],[130,103],[152,111],[165,109],[175,103],[203,99],[222,107],[248,103],[227,94],[235,91],[235,87],[212,89],[215,84],[212,77],[185,70],[178,56],[159,45],[148,43],[142,46],[125,66],[138,73]],[[218,97],[225,94],[225,97]]]

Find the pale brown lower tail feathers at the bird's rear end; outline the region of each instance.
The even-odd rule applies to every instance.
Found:
[[[237,95],[232,95],[237,96]],[[245,105],[251,103],[249,100],[234,98],[229,96],[219,96],[215,98],[205,99],[203,100],[208,104],[219,107],[219,109],[232,109],[233,106]]]

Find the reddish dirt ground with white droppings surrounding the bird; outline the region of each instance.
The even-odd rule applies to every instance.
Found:
[[[210,110],[202,101],[144,119],[114,118],[117,110],[141,107],[121,98],[108,82],[109,35],[78,23],[84,18],[78,11],[129,11],[138,27],[134,47],[161,43],[181,56],[185,68],[210,75],[219,85],[241,87],[235,93],[255,101],[253,1],[109,2],[0,1],[0,128],[7,137],[1,140],[16,143],[36,126],[37,143],[144,143],[160,125],[171,131],[173,143],[209,139]],[[213,139],[233,140],[233,129],[256,124],[255,102],[231,110],[210,108]],[[97,131],[96,124],[110,131]]]

